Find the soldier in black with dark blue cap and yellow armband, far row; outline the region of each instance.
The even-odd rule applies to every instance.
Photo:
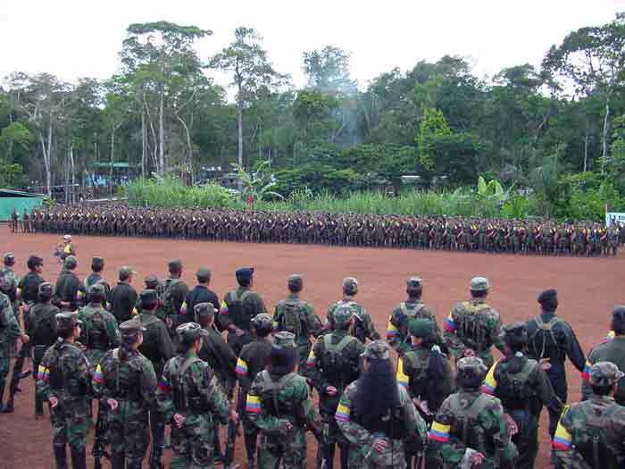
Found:
[[[253,339],[251,321],[257,314],[267,313],[262,298],[252,291],[254,269],[243,267],[237,272],[238,289],[230,290],[221,305],[220,326],[228,330],[228,343],[235,354]]]

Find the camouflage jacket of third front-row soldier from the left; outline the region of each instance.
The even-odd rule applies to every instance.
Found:
[[[177,383],[181,385],[181,389]],[[179,396],[174,395],[178,393]],[[204,410],[198,412],[181,405],[191,398],[197,399],[199,405],[204,406]],[[184,356],[174,356],[165,364],[156,389],[156,399],[166,422],[170,422],[176,413],[185,415],[187,426],[212,417],[221,423],[228,422],[228,397],[209,364],[198,358],[193,351],[188,351]]]

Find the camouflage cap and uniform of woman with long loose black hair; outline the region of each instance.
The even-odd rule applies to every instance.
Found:
[[[390,348],[385,342],[374,340],[367,345],[363,356],[370,360],[389,360]],[[366,373],[366,372],[365,372]],[[426,424],[417,413],[408,392],[397,385],[398,406],[389,409],[376,428],[367,428],[362,422],[362,413],[354,407],[354,398],[358,392],[361,379],[347,386],[341,396],[335,420],[343,436],[350,443],[349,468],[404,468],[404,439],[416,437],[425,440]],[[387,447],[377,450],[377,440],[384,440]]]

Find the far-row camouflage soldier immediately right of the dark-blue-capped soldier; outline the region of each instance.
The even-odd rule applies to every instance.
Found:
[[[311,351],[311,337],[316,338],[323,326],[314,312],[314,307],[300,298],[304,289],[304,279],[300,274],[294,273],[288,276],[287,289],[287,299],[280,301],[273,313],[274,331],[287,331],[295,334],[300,369],[303,369],[306,357]]]

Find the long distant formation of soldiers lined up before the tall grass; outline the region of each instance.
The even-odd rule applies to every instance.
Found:
[[[24,214],[28,232],[400,247],[525,255],[616,255],[625,227],[597,222],[59,205]],[[14,224],[17,227],[17,219]],[[17,230],[17,228],[16,228]]]

